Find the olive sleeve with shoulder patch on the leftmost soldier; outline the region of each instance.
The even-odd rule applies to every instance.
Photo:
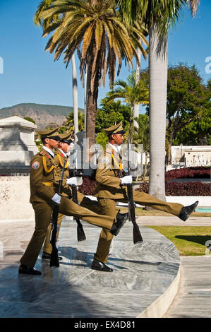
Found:
[[[55,192],[52,186],[45,186],[42,183],[43,179],[43,164],[42,157],[37,155],[31,161],[30,168],[30,186],[33,187],[35,194],[42,198],[51,200]]]

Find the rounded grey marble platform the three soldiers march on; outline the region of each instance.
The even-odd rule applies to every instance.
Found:
[[[39,257],[42,275],[18,275],[19,259],[34,222],[0,227],[0,317],[135,318],[161,317],[177,291],[180,258],[174,244],[157,231],[140,226],[142,244],[133,244],[127,222],[114,237],[108,265],[112,273],[90,268],[100,228],[83,223],[87,240],[77,242],[71,218],[62,222],[59,268]]]

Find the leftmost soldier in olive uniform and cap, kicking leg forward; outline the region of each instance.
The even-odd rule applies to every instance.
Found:
[[[40,131],[39,134],[44,146],[30,162],[30,203],[32,203],[35,211],[35,232],[20,259],[19,267],[19,273],[37,275],[40,275],[41,272],[37,271],[34,266],[47,236],[47,228],[49,227],[54,203],[59,204],[59,213],[76,216],[76,218],[78,217],[87,223],[105,228],[113,235],[119,233],[126,221],[125,215],[121,218],[98,215],[87,208],[78,206],[68,197],[56,194],[53,186],[55,165],[52,150],[58,148],[60,137],[56,134],[56,129]]]

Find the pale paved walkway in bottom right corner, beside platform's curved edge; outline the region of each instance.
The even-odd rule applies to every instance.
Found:
[[[211,256],[181,257],[179,291],[164,318],[211,318]]]

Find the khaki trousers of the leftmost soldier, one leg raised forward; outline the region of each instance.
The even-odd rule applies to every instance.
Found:
[[[35,202],[32,203],[32,207],[35,211],[35,232],[32,235],[25,253],[20,259],[20,263],[30,267],[35,266],[42,244],[47,236],[53,204],[47,202]],[[63,196],[61,197],[61,203],[59,204],[59,213],[80,218],[91,225],[104,228],[107,231],[111,230],[115,219],[107,215],[100,215],[92,212],[88,210],[88,208],[78,206],[78,204],[74,203],[72,199]]]

